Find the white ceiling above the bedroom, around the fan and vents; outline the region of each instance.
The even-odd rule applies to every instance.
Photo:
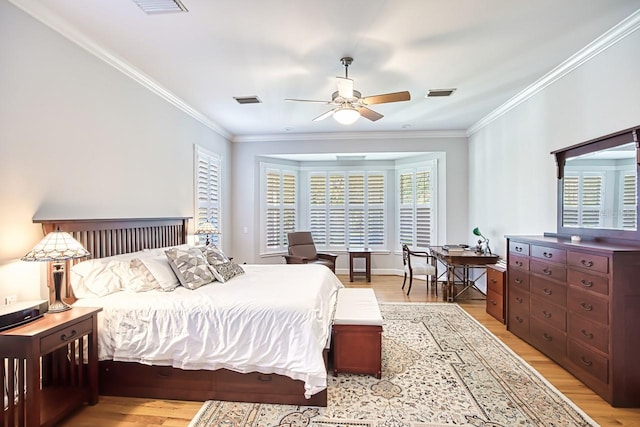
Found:
[[[11,0],[230,138],[287,133],[464,131],[631,15],[638,0]],[[363,95],[411,101],[344,126],[331,106],[343,56]],[[425,98],[429,89],[456,88]],[[233,97],[257,96],[240,105]]]

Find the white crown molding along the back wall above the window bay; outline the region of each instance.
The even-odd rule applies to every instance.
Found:
[[[466,138],[464,130],[440,131],[387,131],[387,132],[328,132],[328,133],[283,133],[270,135],[235,136],[233,142],[282,142],[282,141],[336,141],[361,139],[424,139]]]

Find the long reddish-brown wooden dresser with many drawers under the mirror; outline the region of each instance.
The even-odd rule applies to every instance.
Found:
[[[507,236],[507,329],[613,406],[640,407],[640,246]]]

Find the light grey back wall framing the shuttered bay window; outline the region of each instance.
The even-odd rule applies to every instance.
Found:
[[[408,134],[407,134],[408,135]],[[287,139],[283,141],[234,142],[233,144],[233,256],[234,261],[248,263],[281,263],[282,257],[260,257],[260,175],[259,160],[264,155],[299,153],[363,153],[363,152],[443,152],[439,162],[439,184],[442,189],[439,206],[443,230],[440,243],[467,240],[467,140],[465,137],[393,137],[345,139]],[[446,188],[446,191],[445,191]],[[444,212],[447,215],[444,215]],[[245,233],[246,228],[246,233]],[[346,256],[338,258],[337,268],[348,268]],[[402,260],[395,254],[376,255],[374,271],[401,270]]]

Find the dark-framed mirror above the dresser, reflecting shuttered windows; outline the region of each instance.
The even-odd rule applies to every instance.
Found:
[[[553,152],[558,233],[640,240],[638,128]]]

